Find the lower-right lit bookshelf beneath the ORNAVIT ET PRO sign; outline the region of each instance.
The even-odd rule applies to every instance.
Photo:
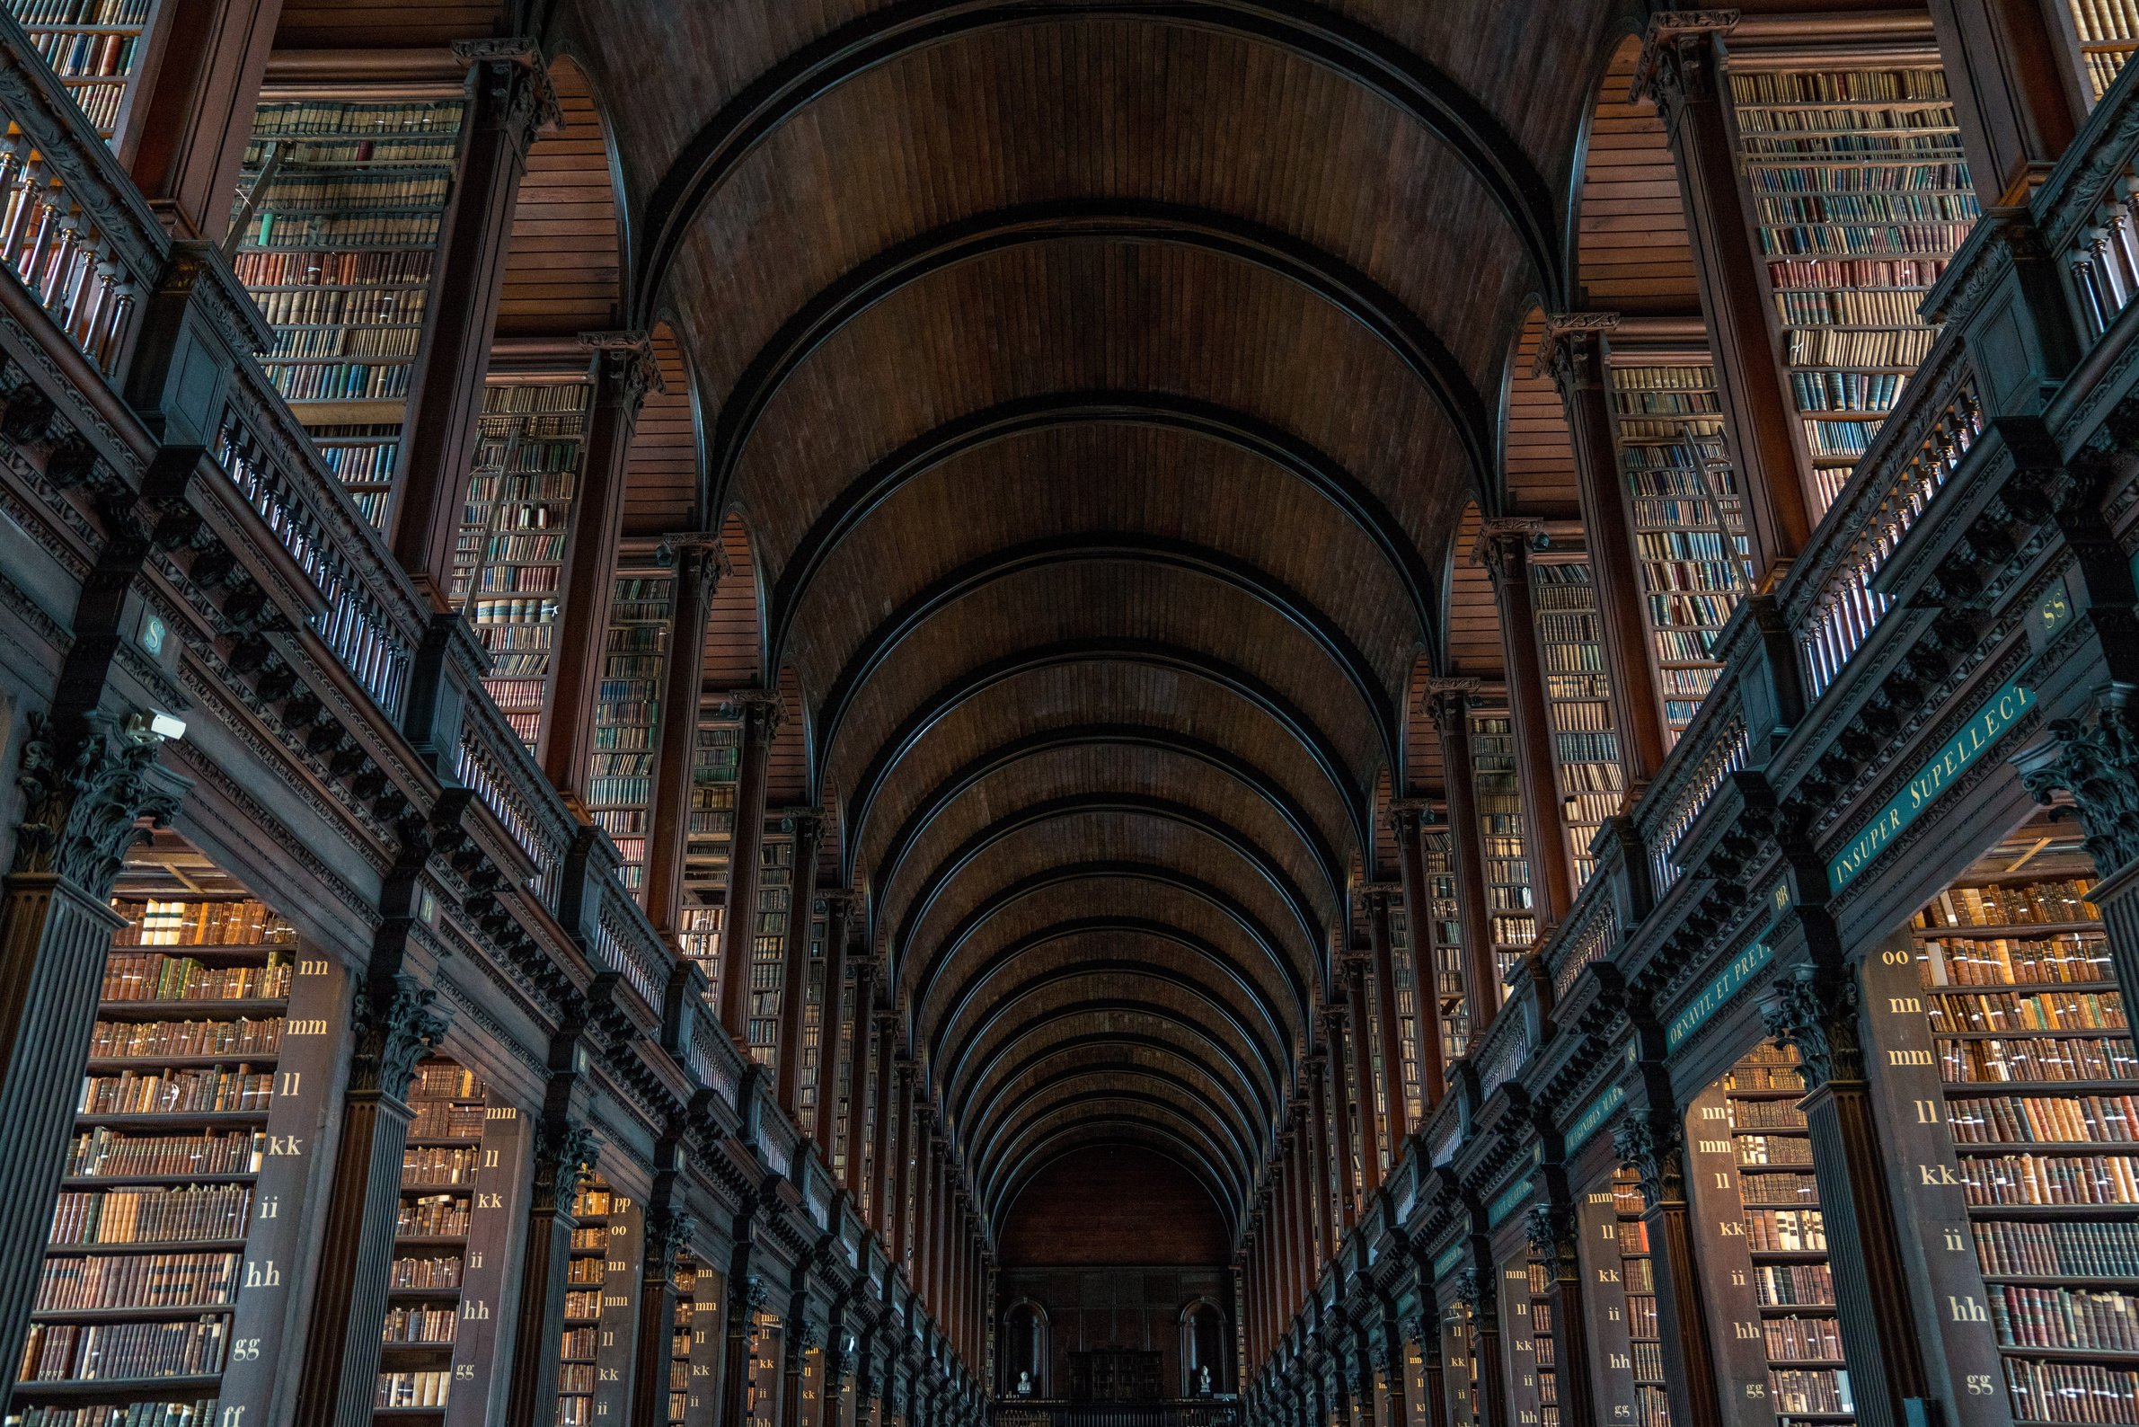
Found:
[[[1850,1423],[1803,1093],[1797,1050],[1778,1044],[1756,1046],[1722,1080],[1769,1401],[1780,1423]]]

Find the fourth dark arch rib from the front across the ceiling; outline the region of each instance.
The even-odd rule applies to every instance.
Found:
[[[832,687],[826,691],[824,704],[819,706],[819,747],[830,749],[838,740],[841,723],[845,721],[847,708],[853,704],[862,685],[866,685],[871,674],[875,674],[883,661],[892,657],[892,650],[896,650],[903,640],[930,618],[997,580],[1033,569],[1087,561],[1166,565],[1230,586],[1271,610],[1313,640],[1328,661],[1337,665],[1337,672],[1352,685],[1367,710],[1367,721],[1382,742],[1384,762],[1397,762],[1395,702],[1382,687],[1380,676],[1367,661],[1367,655],[1352,642],[1352,635],[1345,633],[1335,618],[1275,576],[1249,565],[1247,561],[1226,554],[1224,550],[1194,546],[1164,535],[1136,533],[1057,535],[1027,541],[1022,546],[1010,546],[960,565],[907,599],[898,610],[868,631],[860,648],[847,657],[845,668],[841,668],[841,672],[832,678]]]

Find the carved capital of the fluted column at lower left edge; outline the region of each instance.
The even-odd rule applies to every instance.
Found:
[[[66,732],[32,712],[28,727],[13,871],[51,873],[107,901],[126,849],[148,841],[141,819],[171,822],[186,783],[156,768],[165,740],[145,725],[120,730],[94,715]]]

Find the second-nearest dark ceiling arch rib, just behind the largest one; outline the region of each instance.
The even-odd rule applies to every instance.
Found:
[[[811,297],[757,351],[721,404],[708,449],[708,479],[714,492],[725,492],[732,486],[759,415],[779,396],[787,377],[849,321],[892,293],[958,263],[1005,248],[1061,240],[1202,248],[1307,289],[1371,332],[1425,383],[1469,460],[1474,490],[1487,490],[1493,443],[1484,398],[1478,396],[1440,336],[1380,282],[1313,244],[1232,214],[1157,201],[1065,199],[948,223],[886,248]],[[1292,466],[1288,464],[1288,469]],[[1416,552],[1412,561],[1416,561]],[[1405,573],[1401,561],[1399,573]]]

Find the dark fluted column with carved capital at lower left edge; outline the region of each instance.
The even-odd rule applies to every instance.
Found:
[[[98,668],[88,693],[103,689]],[[21,1361],[60,1168],[75,1127],[96,997],[122,926],[111,886],[143,817],[169,822],[186,783],[160,738],[103,717],[28,715],[13,866],[0,884],[0,1352]]]

